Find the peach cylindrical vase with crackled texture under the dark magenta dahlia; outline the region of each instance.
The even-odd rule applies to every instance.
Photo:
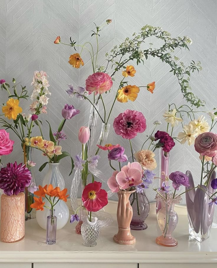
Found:
[[[1,241],[14,243],[25,234],[25,194],[1,195]]]

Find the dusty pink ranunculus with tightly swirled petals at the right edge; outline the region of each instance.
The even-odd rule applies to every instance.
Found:
[[[217,153],[217,135],[212,132],[201,133],[195,139],[194,148],[200,155],[213,157]]]

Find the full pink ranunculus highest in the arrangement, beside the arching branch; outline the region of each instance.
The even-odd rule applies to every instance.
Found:
[[[113,82],[111,76],[104,72],[96,72],[88,76],[86,79],[86,91],[92,93],[95,91],[95,95],[102,94],[112,87]]]

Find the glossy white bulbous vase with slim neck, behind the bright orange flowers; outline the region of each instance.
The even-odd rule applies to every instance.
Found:
[[[45,175],[42,186],[52,184],[53,187],[60,187],[60,190],[62,191],[65,187],[65,182],[63,179],[62,174],[59,171],[59,163],[49,163],[49,170],[47,174]],[[55,201],[57,201],[58,198],[55,198]],[[50,207],[50,203],[47,199],[44,200],[45,206]],[[60,200],[54,207],[55,209],[55,216],[57,217],[57,230],[62,229],[68,219],[69,219],[69,208],[67,204]],[[46,230],[47,228],[47,216],[50,215],[50,210],[47,208],[44,208],[43,211],[38,210],[36,212],[36,220],[39,226]]]

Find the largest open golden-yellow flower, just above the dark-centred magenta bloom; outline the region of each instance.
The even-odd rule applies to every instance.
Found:
[[[118,90],[117,100],[119,102],[128,102],[128,100],[134,101],[139,93],[139,87],[128,85]]]

